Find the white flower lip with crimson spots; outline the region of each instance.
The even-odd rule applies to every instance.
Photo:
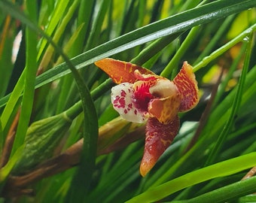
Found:
[[[111,102],[123,119],[134,123],[145,123],[147,112],[136,108],[133,102],[133,84],[121,83],[111,89]]]

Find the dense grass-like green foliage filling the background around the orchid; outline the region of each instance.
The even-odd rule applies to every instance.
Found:
[[[254,201],[254,0],[39,2],[0,1],[3,201]],[[200,104],[146,177],[143,126],[93,65],[109,56],[169,79],[194,66]]]

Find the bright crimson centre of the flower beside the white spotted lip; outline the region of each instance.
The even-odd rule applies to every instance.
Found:
[[[136,108],[141,111],[148,111],[148,102],[154,98],[154,96],[149,92],[150,87],[151,82],[147,81],[139,86],[136,86],[136,89],[134,89],[133,101]]]

